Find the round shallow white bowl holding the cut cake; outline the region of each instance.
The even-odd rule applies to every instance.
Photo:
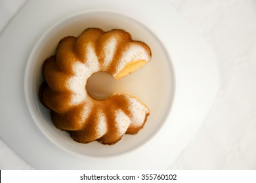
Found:
[[[150,63],[119,81],[116,92],[135,95],[150,108],[150,116],[137,135],[124,135],[112,146],[99,142],[80,144],[66,133],[54,127],[50,112],[39,102],[39,86],[43,82],[43,61],[53,55],[58,42],[68,35],[78,36],[88,27],[100,27],[104,31],[125,29],[133,39],[146,42],[152,49]],[[56,146],[79,156],[117,156],[142,146],[154,138],[165,122],[173,101],[174,77],[171,60],[156,35],[125,14],[110,10],[89,10],[68,16],[50,27],[35,44],[26,66],[26,103],[33,121],[41,132]]]

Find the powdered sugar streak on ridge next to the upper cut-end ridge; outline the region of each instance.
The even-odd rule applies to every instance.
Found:
[[[108,67],[110,63],[112,62],[112,59],[114,58],[114,53],[116,52],[116,39],[112,38],[110,39],[106,45],[104,46],[104,62],[103,66]]]

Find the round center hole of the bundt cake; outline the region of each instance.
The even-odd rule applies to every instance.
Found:
[[[110,73],[99,71],[87,80],[87,93],[96,100],[105,100],[114,93],[116,80]]]

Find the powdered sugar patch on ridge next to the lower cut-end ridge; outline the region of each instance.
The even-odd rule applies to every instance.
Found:
[[[129,116],[127,116],[125,112],[123,112],[123,110],[117,109],[116,110],[116,127],[118,129],[117,133],[119,133],[119,135],[125,134],[130,124],[131,124],[131,119],[129,118]]]

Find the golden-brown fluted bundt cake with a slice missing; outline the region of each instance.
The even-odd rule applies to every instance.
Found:
[[[86,90],[87,80],[98,71],[119,79],[150,59],[149,46],[133,41],[124,30],[85,29],[79,37],[62,39],[56,55],[44,61],[39,99],[51,110],[53,124],[68,131],[74,141],[114,144],[143,127],[148,107],[125,93],[93,99]]]

